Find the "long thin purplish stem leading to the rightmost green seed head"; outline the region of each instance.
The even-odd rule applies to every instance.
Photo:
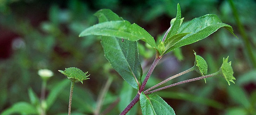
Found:
[[[213,73],[213,74],[209,74],[209,75],[205,75],[205,76],[200,76],[200,77],[196,77],[196,78],[193,78],[193,79],[189,79],[189,80],[184,80],[184,81],[180,81],[180,82],[177,82],[177,83],[173,83],[173,84],[170,84],[168,86],[164,86],[164,87],[155,89],[155,90],[153,90],[151,92],[145,92],[145,95],[148,95],[148,94],[151,94],[151,93],[163,90],[163,89],[167,89],[167,88],[170,88],[170,87],[173,87],[173,86],[177,86],[179,84],[188,83],[188,82],[197,81],[197,80],[202,80],[202,79],[205,79],[205,78],[208,78],[208,77],[216,76],[218,74],[219,74],[219,72],[216,72],[216,73]]]

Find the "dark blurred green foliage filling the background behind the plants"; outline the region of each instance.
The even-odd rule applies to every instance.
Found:
[[[193,66],[193,49],[206,59],[209,74],[216,72],[223,57],[229,55],[235,84],[228,86],[223,78],[213,77],[207,79],[207,84],[201,80],[156,94],[163,97],[177,115],[255,115],[255,0],[0,0],[0,111],[17,102],[29,102],[29,88],[40,97],[42,80],[37,72],[46,68],[54,72],[48,80],[46,94],[59,91],[47,114],[66,114],[69,83],[64,83],[66,77],[58,70],[78,67],[91,75],[75,87],[72,113],[119,114],[136,91],[127,87],[111,68],[100,38],[79,38],[79,33],[97,23],[93,16],[96,11],[109,8],[146,29],[157,41],[175,18],[177,3],[184,22],[216,14],[233,27],[239,39],[220,29],[207,39],[169,53],[156,67],[147,87]],[[139,48],[146,74],[155,51],[143,42]],[[168,83],[197,76],[193,72]],[[62,86],[57,87],[59,83]],[[130,114],[140,114],[139,106]]]

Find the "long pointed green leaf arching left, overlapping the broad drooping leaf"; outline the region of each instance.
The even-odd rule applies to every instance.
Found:
[[[137,24],[128,21],[108,21],[85,29],[79,37],[87,35],[112,36],[130,41],[142,40],[153,48],[157,48],[154,38]]]

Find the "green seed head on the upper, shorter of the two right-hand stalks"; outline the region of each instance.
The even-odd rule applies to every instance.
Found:
[[[194,51],[194,54],[195,54],[196,72],[201,74],[202,76],[206,75],[208,70],[208,65],[206,63],[206,60],[204,60],[203,57],[201,57],[200,55],[196,55],[195,51]]]

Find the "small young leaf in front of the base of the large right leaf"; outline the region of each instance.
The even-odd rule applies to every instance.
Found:
[[[171,50],[170,48],[173,47],[180,39],[182,39],[185,35],[189,33],[181,33],[181,34],[175,34],[164,41],[165,51],[163,54],[169,53]]]

